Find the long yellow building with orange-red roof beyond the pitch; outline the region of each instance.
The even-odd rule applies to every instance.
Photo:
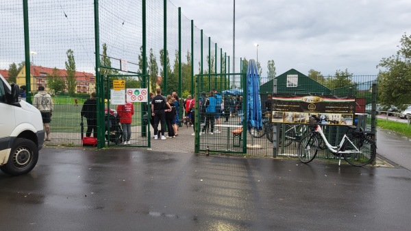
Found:
[[[30,82],[32,84],[32,91],[37,91],[38,86],[45,86],[45,90],[51,90],[47,86],[47,79],[53,74],[53,68],[44,66],[31,66],[30,69]],[[60,77],[64,80],[66,88],[64,92],[67,92],[67,70],[58,69]],[[18,85],[26,85],[25,80],[25,66],[18,73],[16,82]],[[76,89],[75,93],[91,93],[95,91],[96,77],[92,73],[76,71],[75,72]]]

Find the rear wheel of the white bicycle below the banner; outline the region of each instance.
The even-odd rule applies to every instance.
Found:
[[[352,143],[345,141],[343,151],[356,151],[356,147],[360,151],[359,153],[343,154],[345,161],[350,165],[364,166],[375,159],[375,156],[377,155],[377,146],[373,140],[364,136],[353,137],[350,139]]]

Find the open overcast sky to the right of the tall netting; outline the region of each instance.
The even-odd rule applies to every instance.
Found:
[[[233,55],[233,0],[171,0],[219,47]],[[236,69],[256,59],[266,75],[289,69],[323,75],[336,70],[376,75],[379,60],[394,55],[410,35],[410,0],[236,0]]]

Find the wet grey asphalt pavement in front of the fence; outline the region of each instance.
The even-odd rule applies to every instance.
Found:
[[[1,230],[410,230],[411,171],[46,147],[0,173]]]

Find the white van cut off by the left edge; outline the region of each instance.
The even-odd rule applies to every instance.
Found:
[[[19,92],[0,75],[0,169],[8,175],[32,171],[45,139],[40,111]]]

